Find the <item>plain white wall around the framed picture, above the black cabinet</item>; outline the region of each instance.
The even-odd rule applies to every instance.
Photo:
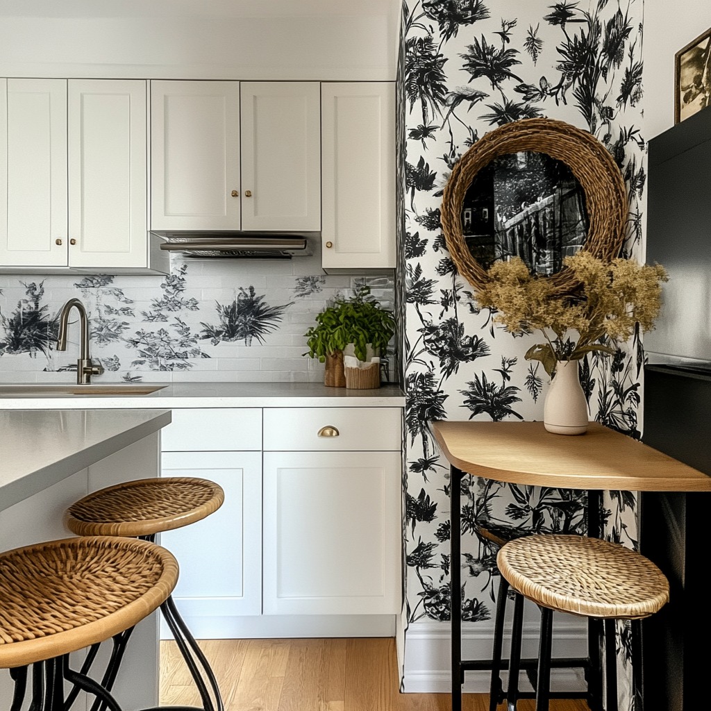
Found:
[[[644,134],[674,125],[674,55],[711,27],[709,0],[644,1]]]

